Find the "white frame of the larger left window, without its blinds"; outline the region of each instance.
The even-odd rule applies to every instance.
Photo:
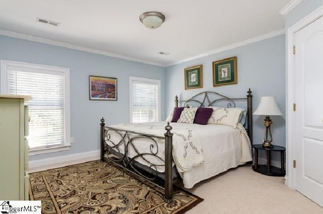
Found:
[[[47,66],[39,64],[31,64],[24,62],[1,60],[1,70],[0,70],[0,83],[1,93],[8,93],[8,70],[17,68],[21,71],[29,71],[37,73],[60,73],[64,77],[64,144],[50,146],[50,147],[36,147],[29,150],[29,155],[43,154],[49,152],[57,152],[69,150],[71,148],[71,122],[70,122],[70,69],[57,67],[57,66]],[[27,137],[28,139],[28,137]]]

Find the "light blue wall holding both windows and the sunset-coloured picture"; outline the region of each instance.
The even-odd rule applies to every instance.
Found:
[[[0,59],[70,69],[71,137],[68,151],[30,156],[30,160],[99,149],[99,123],[129,122],[129,76],[161,81],[161,116],[165,115],[165,68],[73,50],[23,39],[0,36]],[[89,75],[116,77],[118,100],[89,100]]]

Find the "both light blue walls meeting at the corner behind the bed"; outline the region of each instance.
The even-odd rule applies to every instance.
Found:
[[[261,96],[276,96],[285,114],[285,40],[284,35],[262,40],[194,61],[170,66],[152,66],[96,55],[23,39],[0,36],[0,59],[70,68],[71,136],[75,143],[68,151],[34,155],[30,160],[68,155],[99,149],[99,119],[106,124],[129,121],[129,76],[161,81],[161,117],[174,107],[174,96],[188,98],[204,90],[244,97],[253,91],[253,110]],[[238,84],[212,86],[212,62],[237,56]],[[203,88],[184,89],[184,69],[203,65]],[[118,78],[118,100],[89,100],[89,75]],[[285,145],[285,117],[272,117],[275,144]],[[261,143],[263,117],[253,116],[254,143]]]

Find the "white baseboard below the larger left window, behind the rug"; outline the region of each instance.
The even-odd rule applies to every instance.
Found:
[[[95,161],[100,158],[100,150],[57,156],[29,161],[28,173],[34,173],[53,168],[65,167],[73,164],[80,164],[89,161]]]

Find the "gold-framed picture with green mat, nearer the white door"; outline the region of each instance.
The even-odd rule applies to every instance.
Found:
[[[237,84],[237,57],[227,58],[212,63],[213,87]]]

